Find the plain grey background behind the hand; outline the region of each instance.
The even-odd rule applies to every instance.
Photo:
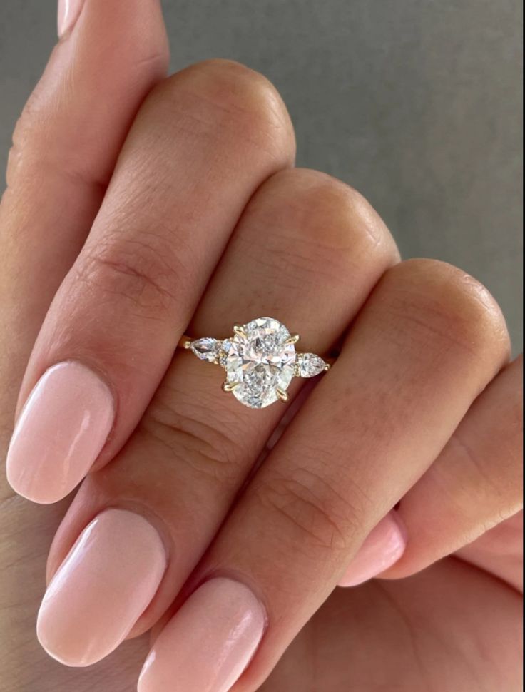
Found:
[[[111,0],[108,0],[111,1]],[[298,163],[359,189],[405,256],[479,278],[521,350],[521,0],[165,0],[172,68],[235,58],[295,121]],[[56,35],[1,0],[0,166]]]

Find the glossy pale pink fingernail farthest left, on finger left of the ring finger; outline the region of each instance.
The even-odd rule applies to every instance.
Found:
[[[7,478],[34,502],[56,502],[88,473],[113,426],[113,396],[81,363],[54,365],[29,395],[7,452]]]

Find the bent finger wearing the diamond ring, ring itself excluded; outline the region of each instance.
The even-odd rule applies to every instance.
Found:
[[[275,314],[278,308],[283,321],[303,331],[307,348],[322,351],[396,260],[386,228],[357,193],[327,175],[282,171],[250,200],[194,327],[206,330],[200,334],[220,335],[228,333],[236,319]],[[349,275],[352,283],[345,292],[342,286]],[[171,604],[286,410],[280,402],[258,410],[244,407],[221,391],[223,377],[220,367],[178,352],[133,439],[111,464],[86,479],[53,543],[49,576],[93,517],[105,509],[138,512],[158,528],[167,546],[166,571],[143,616],[129,613],[125,634],[131,627],[133,634],[149,629]],[[290,401],[296,391],[290,390]],[[108,564],[106,574],[109,571]],[[56,584],[64,585],[61,594],[78,589],[76,578],[61,574],[62,568],[51,581],[51,594]],[[126,576],[139,589],[136,576]],[[98,603],[100,591],[96,585],[83,589],[82,607],[91,611],[91,599]],[[97,657],[108,653],[108,647],[91,644],[99,641],[98,629],[105,621],[90,619],[90,626],[79,628],[83,620],[68,611],[66,599],[59,594],[44,601],[40,627],[46,648],[70,662],[84,660],[84,650]],[[111,618],[113,606],[106,610]],[[53,623],[64,612],[67,619],[61,620],[57,632]],[[78,631],[81,636],[74,634]],[[118,641],[114,636],[113,646]]]

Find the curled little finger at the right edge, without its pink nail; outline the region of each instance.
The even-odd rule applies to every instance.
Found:
[[[403,497],[398,512],[407,549],[385,576],[414,574],[519,512],[522,376],[520,357],[479,395],[432,467]],[[494,564],[501,577],[519,574],[508,567],[503,555]]]

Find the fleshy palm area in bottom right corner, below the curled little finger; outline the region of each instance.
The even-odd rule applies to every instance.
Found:
[[[258,692],[311,690],[312,679],[322,692],[467,692],[481,680],[484,692],[519,692],[521,631],[518,594],[442,560],[412,579],[335,589]]]

